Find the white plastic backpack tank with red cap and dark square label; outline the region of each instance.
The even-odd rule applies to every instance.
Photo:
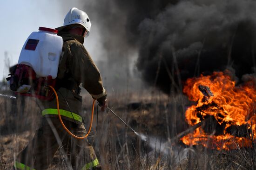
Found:
[[[55,79],[63,44],[57,33],[57,30],[45,27],[32,32],[22,47],[18,64],[32,67],[37,76]]]

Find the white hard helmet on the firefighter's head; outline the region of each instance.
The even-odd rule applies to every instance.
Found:
[[[80,24],[82,25],[88,32],[91,31],[91,21],[87,15],[87,13],[73,7],[67,13],[63,26],[71,25],[71,24]]]

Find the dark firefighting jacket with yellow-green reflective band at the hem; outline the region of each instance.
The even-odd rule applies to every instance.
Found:
[[[106,99],[107,92],[103,88],[99,69],[84,48],[84,38],[79,35],[59,32],[63,38],[56,90],[59,98],[62,119],[75,123],[82,122],[82,97],[78,94],[79,85],[85,88],[94,99],[101,102]],[[58,116],[56,98],[42,101],[43,116]]]

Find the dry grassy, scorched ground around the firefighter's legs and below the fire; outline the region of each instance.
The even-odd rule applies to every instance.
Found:
[[[84,120],[88,126],[92,100],[84,96]],[[95,109],[93,137],[88,138],[104,170],[253,170],[255,148],[232,151],[209,150],[200,145],[170,144],[171,139],[189,126],[184,113],[191,103],[183,95],[168,97],[160,92],[120,93],[108,96],[111,107],[135,131],[130,131],[109,111]],[[32,98],[0,98],[0,169],[9,170],[14,157],[22,151],[40,123],[40,107]],[[95,132],[97,126],[97,132]],[[57,151],[49,170],[68,169],[65,157]]]

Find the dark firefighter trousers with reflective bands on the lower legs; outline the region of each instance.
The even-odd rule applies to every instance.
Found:
[[[70,132],[84,136],[83,125],[63,120]],[[62,127],[59,118],[44,117],[34,139],[20,152],[14,162],[17,170],[44,170],[52,163],[57,150],[60,155],[54,163],[67,170],[101,170],[92,145],[87,139],[75,139]]]

